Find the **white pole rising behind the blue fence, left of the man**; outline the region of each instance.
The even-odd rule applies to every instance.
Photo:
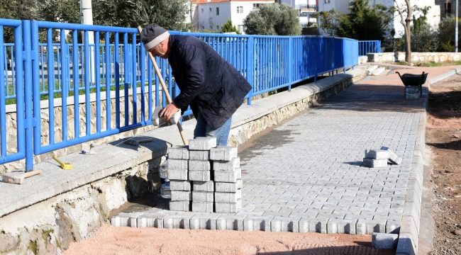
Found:
[[[91,0],[80,0],[80,16],[82,18],[81,23],[84,25],[93,25],[93,10],[91,8]],[[85,34],[82,32],[82,40],[85,40]],[[84,41],[83,41],[84,42]],[[89,46],[89,68],[90,78],[89,82],[95,82],[94,73],[94,32],[88,31],[88,44]],[[82,65],[84,62],[82,62]],[[82,73],[83,74],[83,73]]]

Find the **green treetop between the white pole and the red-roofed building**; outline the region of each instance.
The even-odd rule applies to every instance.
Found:
[[[167,30],[192,28],[184,22],[189,0],[104,0],[92,4],[96,25],[136,28],[156,23]]]

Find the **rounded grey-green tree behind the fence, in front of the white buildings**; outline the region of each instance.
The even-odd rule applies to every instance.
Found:
[[[287,4],[264,4],[243,21],[249,35],[301,35],[298,12]]]

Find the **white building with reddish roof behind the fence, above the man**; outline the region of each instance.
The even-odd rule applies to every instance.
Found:
[[[245,33],[243,20],[261,4],[274,4],[274,0],[192,0],[191,19],[197,30],[221,33],[221,27],[230,19],[241,33]]]

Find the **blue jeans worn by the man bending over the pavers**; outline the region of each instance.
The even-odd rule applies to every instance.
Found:
[[[216,145],[227,146],[229,139],[230,126],[232,124],[232,117],[226,123],[217,129],[213,129],[206,123],[203,115],[199,112],[197,117],[197,125],[195,125],[194,138],[196,137],[216,137]]]

